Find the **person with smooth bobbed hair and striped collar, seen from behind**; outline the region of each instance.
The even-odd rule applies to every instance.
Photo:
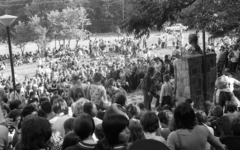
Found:
[[[95,125],[92,117],[88,114],[80,114],[73,124],[74,133],[80,138],[78,144],[68,147],[66,150],[93,150],[96,142],[92,135]]]

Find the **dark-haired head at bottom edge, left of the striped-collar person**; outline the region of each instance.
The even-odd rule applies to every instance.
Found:
[[[76,145],[79,141],[80,138],[73,131],[68,132],[63,139],[62,150]]]

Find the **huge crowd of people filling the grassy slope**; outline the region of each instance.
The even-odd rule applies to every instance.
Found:
[[[0,150],[131,150],[140,140],[170,150],[239,149],[240,105],[233,89],[240,82],[232,77],[232,64],[219,71],[224,75],[219,73],[205,111],[196,110],[193,99],[178,104],[176,62],[186,53],[202,54],[197,40],[190,35],[185,52],[177,45],[161,58],[131,38],[95,39],[88,47],[48,50],[35,77],[15,88],[1,75]],[[154,48],[162,46],[160,40]],[[128,101],[136,90],[143,102]]]

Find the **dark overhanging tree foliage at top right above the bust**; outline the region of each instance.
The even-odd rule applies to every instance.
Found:
[[[120,26],[136,37],[176,22],[190,28],[205,28],[215,37],[239,29],[237,0],[129,0],[129,3],[132,11]]]

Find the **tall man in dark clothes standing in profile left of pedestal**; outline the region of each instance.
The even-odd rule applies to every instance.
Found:
[[[151,110],[151,102],[152,102],[152,77],[154,75],[154,67],[149,67],[147,74],[143,78],[143,96],[144,96],[144,105],[147,110]]]

